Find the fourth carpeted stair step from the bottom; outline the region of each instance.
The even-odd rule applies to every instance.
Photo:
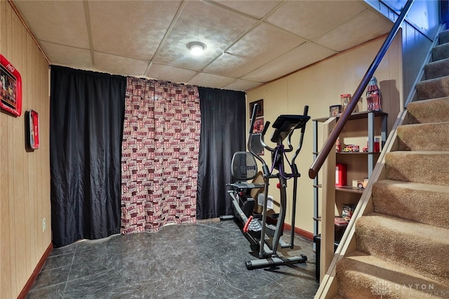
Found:
[[[387,178],[449,186],[449,152],[397,151],[385,154]]]

